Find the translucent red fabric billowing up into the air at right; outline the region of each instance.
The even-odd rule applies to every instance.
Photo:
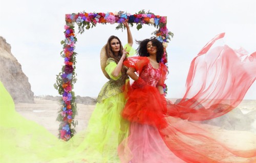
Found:
[[[244,98],[256,78],[256,52],[212,45],[225,33],[209,41],[191,62],[184,97],[168,105],[168,115],[193,121],[222,116]]]

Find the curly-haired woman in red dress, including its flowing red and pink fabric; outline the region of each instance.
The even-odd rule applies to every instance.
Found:
[[[232,110],[255,80],[255,70],[246,69],[255,67],[255,54],[248,59],[241,51],[228,46],[210,49],[223,36],[216,36],[199,52],[191,63],[184,97],[175,104],[167,102],[167,107],[162,87],[167,74],[166,66],[161,63],[162,43],[157,39],[138,42],[139,57],[128,58],[123,63],[129,67],[127,74],[135,82],[122,112],[131,126],[129,137],[118,147],[121,162],[255,161],[255,147],[230,146],[226,135],[230,137],[231,132],[227,134],[217,127],[194,122],[219,117]],[[198,77],[198,73],[205,78]],[[196,87],[198,78],[201,88]],[[253,140],[255,135],[248,137]]]

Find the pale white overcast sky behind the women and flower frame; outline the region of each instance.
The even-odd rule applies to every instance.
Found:
[[[224,43],[232,48],[242,46],[249,53],[256,51],[255,0],[194,1],[7,1],[0,0],[0,36],[12,46],[12,53],[22,65],[35,95],[58,95],[54,89],[56,74],[63,58],[60,41],[65,38],[65,14],[86,12],[138,13],[144,9],[167,16],[167,28],[174,38],[167,47],[170,74],[167,97],[182,97],[191,60],[214,36],[225,32]],[[77,35],[77,83],[75,94],[96,97],[107,81],[100,69],[99,53],[109,36],[127,42],[126,31],[116,31],[117,24],[97,24]],[[134,40],[151,37],[156,29],[144,25],[131,28]],[[137,45],[135,45],[137,47]],[[256,99],[256,83],[246,99]]]

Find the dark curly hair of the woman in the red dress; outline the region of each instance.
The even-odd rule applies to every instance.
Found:
[[[159,63],[163,57],[163,44],[158,41],[155,37],[151,39],[145,39],[142,41],[137,41],[136,43],[139,44],[139,47],[137,48],[138,56],[140,57],[148,57],[150,54],[147,52],[146,45],[148,42],[152,42],[153,46],[157,47],[157,62]]]

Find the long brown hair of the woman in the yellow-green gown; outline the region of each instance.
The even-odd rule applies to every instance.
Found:
[[[113,40],[113,39],[117,39],[119,41],[119,44],[120,44],[120,50],[118,52],[118,56],[115,56],[114,52],[111,50],[111,45],[110,45],[110,42]],[[108,58],[113,58],[116,63],[118,63],[120,61],[120,58],[121,56],[123,55],[123,46],[122,46],[122,43],[121,41],[119,40],[118,37],[116,36],[110,36],[110,38],[108,39],[108,42],[106,43],[106,46],[105,46],[105,50],[106,50],[106,57]]]

